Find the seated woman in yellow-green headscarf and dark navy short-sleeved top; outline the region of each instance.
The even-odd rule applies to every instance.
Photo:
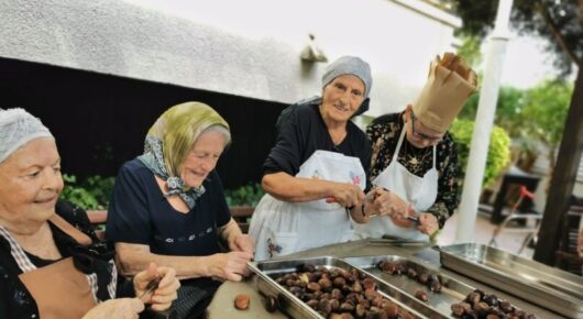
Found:
[[[116,242],[121,271],[132,275],[151,261],[182,279],[180,318],[202,314],[220,280],[241,280],[254,243],[231,218],[217,161],[230,143],[229,124],[212,108],[186,102],[150,129],[144,154],[116,179],[106,237]],[[230,252],[222,253],[218,239]]]

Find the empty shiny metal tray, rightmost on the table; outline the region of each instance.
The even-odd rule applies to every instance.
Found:
[[[583,277],[483,244],[435,249],[447,268],[569,318],[583,318]]]

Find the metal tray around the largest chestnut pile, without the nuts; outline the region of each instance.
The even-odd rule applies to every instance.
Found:
[[[279,309],[284,310],[293,318],[323,318],[316,310],[311,309],[304,301],[289,293],[285,287],[278,285],[274,279],[274,277],[280,276],[283,274],[296,272],[297,267],[301,264],[311,264],[327,268],[338,267],[349,272],[356,270],[362,273],[362,270],[354,267],[343,260],[331,256],[249,263],[249,267],[255,274],[257,274],[257,289],[266,296],[277,297],[279,300]],[[407,310],[415,318],[449,318],[448,316],[443,316],[437,310],[425,305],[415,297],[403,294],[402,290],[396,289],[383,280],[380,280],[374,276],[371,278],[375,280],[378,287],[377,290],[381,295],[383,295],[383,297],[399,305],[399,307]]]

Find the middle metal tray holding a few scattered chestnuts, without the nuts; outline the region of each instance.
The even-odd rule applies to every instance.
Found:
[[[355,267],[362,268],[366,273],[378,277],[383,282],[397,287],[397,289],[402,290],[404,294],[410,295],[411,298],[415,298],[415,293],[419,289],[426,292],[428,300],[425,301],[425,304],[433,309],[437,309],[437,311],[439,311],[441,315],[449,318],[455,318],[451,314],[451,305],[462,301],[465,299],[468,294],[474,290],[473,287],[443,275],[438,271],[428,268],[419,263],[415,263],[397,255],[348,257],[343,260],[349,264],[352,264]],[[430,275],[438,276],[441,284],[443,285],[441,293],[432,293],[426,285],[410,279],[406,274],[391,275],[384,273],[376,266],[381,261],[404,263],[407,267],[414,267],[418,273],[428,273]]]

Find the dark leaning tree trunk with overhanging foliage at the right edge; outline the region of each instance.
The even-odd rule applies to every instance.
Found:
[[[492,30],[498,1],[443,0],[443,2],[462,18],[464,33],[483,37]],[[553,64],[562,70],[563,76],[571,74],[573,65],[579,67],[569,111],[570,114],[579,118],[565,122],[565,130],[573,130],[579,134],[580,113],[583,108],[583,1],[515,0],[510,23],[522,34],[546,38],[548,51],[556,53]],[[559,246],[561,215],[566,211],[565,202],[573,190],[572,180],[575,172],[573,165],[569,166],[569,163],[576,162],[581,156],[581,147],[575,146],[573,152],[566,152],[566,147],[562,147],[561,151],[564,160],[560,163],[568,172],[553,174],[542,219],[543,227],[535,252],[535,260],[547,264],[553,264],[554,252]],[[569,182],[569,178],[572,180]]]

